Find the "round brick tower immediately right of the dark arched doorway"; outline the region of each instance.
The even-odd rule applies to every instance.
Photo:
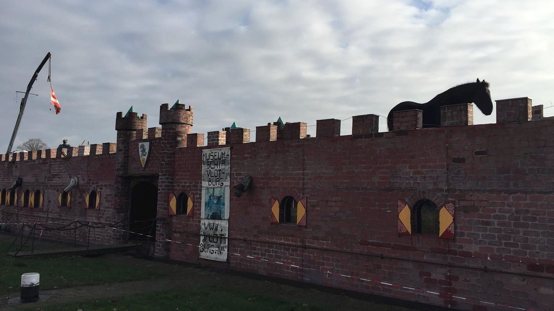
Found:
[[[156,253],[157,257],[168,257],[171,238],[171,223],[167,216],[169,194],[173,190],[175,157],[177,148],[187,147],[187,134],[191,132],[193,122],[192,107],[188,109],[177,101],[168,108],[160,106],[160,124],[162,125],[162,151],[160,174],[158,175],[158,208],[156,220]]]

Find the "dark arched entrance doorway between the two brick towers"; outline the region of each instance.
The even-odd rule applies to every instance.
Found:
[[[158,188],[149,182],[140,182],[131,189],[129,211],[129,240],[155,240]]]

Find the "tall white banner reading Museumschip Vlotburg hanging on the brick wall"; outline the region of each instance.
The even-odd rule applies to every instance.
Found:
[[[202,151],[200,258],[227,261],[231,149]]]

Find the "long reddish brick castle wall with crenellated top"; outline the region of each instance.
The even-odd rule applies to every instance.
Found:
[[[503,107],[512,110],[501,111],[506,115],[527,113],[517,105]],[[217,131],[208,133],[208,147],[196,147],[202,143],[189,127],[171,132],[169,125],[181,119],[164,123],[170,131],[165,138],[148,130],[152,151],[146,168],[136,152],[146,139],[144,129],[137,129],[142,132],[126,142],[122,152],[128,154],[119,158],[110,153],[27,160],[3,155],[0,187],[22,176],[22,188],[44,189],[45,203],[42,210],[0,206],[0,221],[119,221],[129,203],[115,198],[114,182],[127,180],[130,188],[129,180],[162,174],[156,183],[158,194],[163,188],[157,214],[164,218],[158,224],[158,256],[463,310],[501,305],[546,310],[554,303],[554,119],[463,126],[473,120],[471,112],[468,106],[448,108],[448,127],[440,128],[376,133],[376,118],[370,115],[358,116],[349,136],[336,136],[340,123],[327,119],[320,122],[325,127],[320,137],[304,138],[305,123],[287,123],[286,138],[275,137],[268,127],[259,141],[255,134],[258,142],[245,143],[244,134],[232,139],[227,144],[231,187],[247,175],[253,185],[239,198],[231,195],[225,263],[199,259],[197,245],[202,150],[229,142]],[[420,116],[412,117],[398,121],[417,124]],[[167,141],[170,136],[175,142]],[[189,140],[196,143],[179,148]],[[114,169],[125,158],[125,168]],[[57,194],[73,176],[79,186],[71,208],[58,208]],[[99,210],[84,208],[84,194],[91,189],[102,193]],[[166,216],[168,193],[181,192],[194,197],[192,217]],[[306,226],[271,224],[271,198],[289,195],[306,198]],[[399,199],[412,208],[421,199],[439,208],[454,201],[454,239],[399,235]],[[60,238],[73,239],[73,231]],[[110,230],[94,235],[102,243],[124,238]]]

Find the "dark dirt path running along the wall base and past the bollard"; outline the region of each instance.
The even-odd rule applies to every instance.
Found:
[[[224,285],[255,294],[265,294],[280,297],[293,302],[306,302],[309,297],[311,302],[328,307],[332,310],[371,310],[375,304],[383,304],[383,310],[407,311],[407,310],[432,310],[438,308],[429,305],[414,305],[402,300],[383,299],[375,296],[340,291],[338,289],[313,287],[310,284],[300,282],[283,281],[280,279],[268,279],[250,274],[240,274],[232,271],[216,270],[209,267],[193,266],[187,264],[175,265],[175,263],[156,262],[144,260],[132,256],[110,256],[111,260],[126,263],[142,261],[144,265],[170,265],[173,269],[171,277],[151,279],[147,281],[122,282],[114,284],[102,284],[95,286],[77,286],[69,288],[48,289],[40,291],[40,295],[49,297],[48,300],[36,303],[8,303],[14,297],[19,297],[19,292],[14,292],[0,300],[0,310],[22,310],[30,307],[60,304],[66,302],[78,302],[88,299],[109,299],[110,297],[125,296],[151,291],[162,291],[168,288],[179,288],[199,285]],[[163,267],[163,268],[168,268]],[[402,306],[402,307],[401,307]]]

